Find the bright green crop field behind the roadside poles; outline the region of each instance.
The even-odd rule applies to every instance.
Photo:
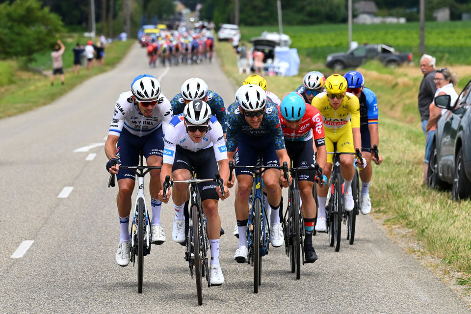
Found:
[[[388,44],[399,52],[412,52],[419,64],[419,23],[352,26],[352,40],[359,44]],[[278,32],[277,26],[241,26],[241,40],[249,41],[262,31]],[[438,64],[471,64],[471,21],[427,22],[425,52],[437,58]],[[313,62],[324,62],[328,53],[348,49],[348,28],[340,25],[284,26],[299,54]]]

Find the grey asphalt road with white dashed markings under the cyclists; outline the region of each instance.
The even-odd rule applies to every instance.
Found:
[[[1,313],[471,313],[362,215],[355,244],[343,236],[340,252],[329,247],[326,234],[314,237],[319,260],[302,266],[300,280],[290,273],[284,248],[271,248],[254,294],[252,268],[233,261],[233,196],[220,203],[226,282],[204,289],[203,306],[197,305],[184,249],[171,240],[153,246],[145,258],[138,294],[137,267],[115,262],[117,188],[107,187],[103,149],[114,103],[141,73],[160,77],[169,99],[194,76],[227,104],[235,92],[217,63],[149,69],[145,55],[135,45],[114,70],[51,105],[0,121]],[[72,192],[58,198],[66,186]],[[171,205],[162,209],[167,239],[173,214]],[[26,240],[33,241],[29,249],[12,258]]]

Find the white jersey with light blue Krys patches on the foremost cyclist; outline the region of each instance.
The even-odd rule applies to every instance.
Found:
[[[183,123],[183,113],[174,116],[163,138],[165,147],[163,150],[163,163],[172,164],[175,160],[177,145],[192,152],[197,152],[213,147],[216,161],[227,159],[227,148],[224,142],[224,133],[221,124],[215,116],[209,120],[208,131],[199,143],[193,142],[186,132]]]

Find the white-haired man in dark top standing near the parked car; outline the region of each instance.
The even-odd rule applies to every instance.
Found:
[[[429,54],[424,54],[420,58],[420,71],[422,71],[423,78],[420,82],[418,106],[420,123],[425,136],[427,136],[425,126],[427,125],[429,118],[429,106],[433,101],[433,95],[435,95],[435,91],[437,90],[433,81],[433,78],[435,77],[435,61],[435,58]]]

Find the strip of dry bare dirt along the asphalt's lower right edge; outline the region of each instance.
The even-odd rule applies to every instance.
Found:
[[[456,284],[456,280],[458,278],[466,278],[466,274],[460,273],[443,264],[440,259],[428,255],[424,251],[422,243],[414,238],[412,230],[397,225],[385,225],[384,221],[388,217],[384,214],[372,212],[371,215],[376,224],[384,230],[394,243],[402,248],[404,252],[412,255],[422,266],[432,271],[435,276],[442,279],[451,290],[471,307],[471,290],[467,290],[469,286],[459,286]]]

